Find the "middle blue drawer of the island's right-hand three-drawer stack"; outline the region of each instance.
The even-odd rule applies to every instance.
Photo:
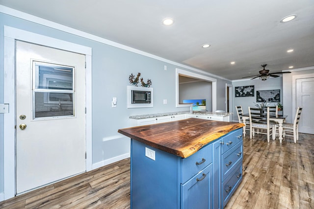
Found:
[[[242,141],[222,155],[222,181],[233,172],[233,168],[242,164]]]

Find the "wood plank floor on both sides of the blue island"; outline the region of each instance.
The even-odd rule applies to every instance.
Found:
[[[243,141],[243,180],[225,209],[314,209],[314,135]],[[1,209],[129,209],[130,159],[0,202]]]

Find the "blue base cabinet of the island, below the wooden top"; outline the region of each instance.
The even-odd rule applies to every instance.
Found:
[[[131,209],[223,208],[242,179],[241,130],[187,158],[131,139]],[[155,160],[146,157],[146,148],[155,151]],[[226,161],[232,163],[223,168]]]

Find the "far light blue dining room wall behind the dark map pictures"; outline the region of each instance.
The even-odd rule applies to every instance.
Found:
[[[232,82],[233,85],[233,107],[232,110],[234,112],[232,119],[233,121],[238,121],[235,106],[242,106],[243,112],[248,113],[248,107],[255,107],[256,102],[256,91],[263,91],[263,90],[278,90],[280,89],[280,102],[285,106],[283,103],[283,78],[269,78],[266,81],[262,81],[259,79],[254,80],[245,80],[245,81],[237,81]],[[239,86],[252,86],[254,85],[254,97],[235,97],[235,87]],[[276,103],[268,103],[269,106],[275,106]]]

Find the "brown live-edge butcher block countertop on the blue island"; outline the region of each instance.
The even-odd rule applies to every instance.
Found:
[[[238,122],[187,118],[119,129],[118,132],[159,150],[187,158],[209,142],[243,126]]]

